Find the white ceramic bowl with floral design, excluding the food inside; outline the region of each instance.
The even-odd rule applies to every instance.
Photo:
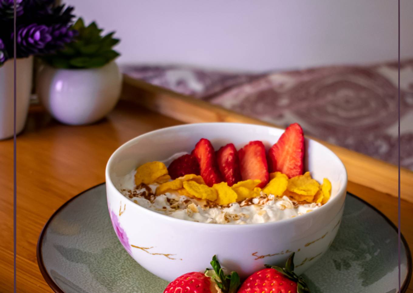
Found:
[[[106,167],[109,213],[116,234],[128,253],[148,271],[171,281],[187,272],[203,271],[217,255],[223,267],[245,277],[263,264],[282,265],[296,252],[301,274],[332,243],[344,209],[347,172],[339,158],[316,141],[306,139],[305,170],[332,183],[332,196],[322,207],[291,219],[263,224],[206,224],[175,219],[141,207],[116,186],[139,165],[190,152],[200,138],[218,149],[234,143],[237,149],[260,140],[269,148],[283,130],[238,123],[186,124],[152,131],[128,141],[110,157]]]

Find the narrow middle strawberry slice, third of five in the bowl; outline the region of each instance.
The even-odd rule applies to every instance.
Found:
[[[228,186],[233,186],[241,181],[240,160],[238,159],[237,149],[232,143],[228,143],[216,152],[216,160],[218,161],[219,171],[221,171]]]

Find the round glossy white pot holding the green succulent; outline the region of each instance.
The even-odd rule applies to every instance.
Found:
[[[122,75],[115,62],[90,69],[40,66],[36,91],[40,102],[64,124],[90,124],[102,119],[119,100]]]

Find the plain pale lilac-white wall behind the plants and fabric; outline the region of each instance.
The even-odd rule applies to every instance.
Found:
[[[397,59],[396,0],[67,0],[121,38],[118,62],[260,71]],[[401,0],[413,57],[413,1]]]

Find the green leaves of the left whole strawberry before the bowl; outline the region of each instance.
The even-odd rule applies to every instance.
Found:
[[[216,259],[216,255],[212,257],[211,266],[212,270],[206,269],[205,275],[210,277],[223,293],[236,293],[241,285],[240,276],[237,272],[231,272],[229,275],[226,275],[221,264]]]

